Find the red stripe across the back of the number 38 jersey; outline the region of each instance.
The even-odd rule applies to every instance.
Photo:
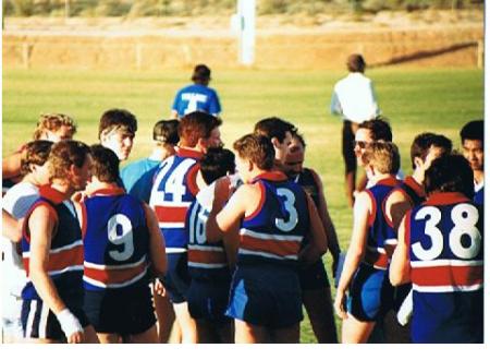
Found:
[[[483,266],[412,266],[412,283],[419,286],[469,286],[482,284]]]

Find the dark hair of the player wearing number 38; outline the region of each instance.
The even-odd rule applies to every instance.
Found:
[[[426,194],[432,192],[460,192],[467,197],[475,195],[473,170],[458,153],[441,156],[432,161],[424,178]]]

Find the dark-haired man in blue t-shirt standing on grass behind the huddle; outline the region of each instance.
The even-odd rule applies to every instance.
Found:
[[[180,119],[193,111],[204,111],[218,117],[221,112],[220,99],[218,93],[208,87],[211,70],[205,64],[198,64],[194,68],[191,80],[194,84],[181,88],[175,95],[171,118]]]

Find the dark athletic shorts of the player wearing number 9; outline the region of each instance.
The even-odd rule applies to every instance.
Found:
[[[146,285],[105,291],[87,290],[84,310],[97,333],[136,335],[157,322],[151,290]]]

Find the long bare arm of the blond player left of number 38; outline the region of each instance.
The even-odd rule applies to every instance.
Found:
[[[352,230],[351,243],[345,256],[344,268],[339,280],[336,297],[333,304],[336,314],[341,319],[347,317],[347,312],[345,309],[346,291],[366,251],[369,214],[371,212],[370,207],[371,203],[369,195],[363,191],[357,195],[356,202],[354,204],[354,225]]]

